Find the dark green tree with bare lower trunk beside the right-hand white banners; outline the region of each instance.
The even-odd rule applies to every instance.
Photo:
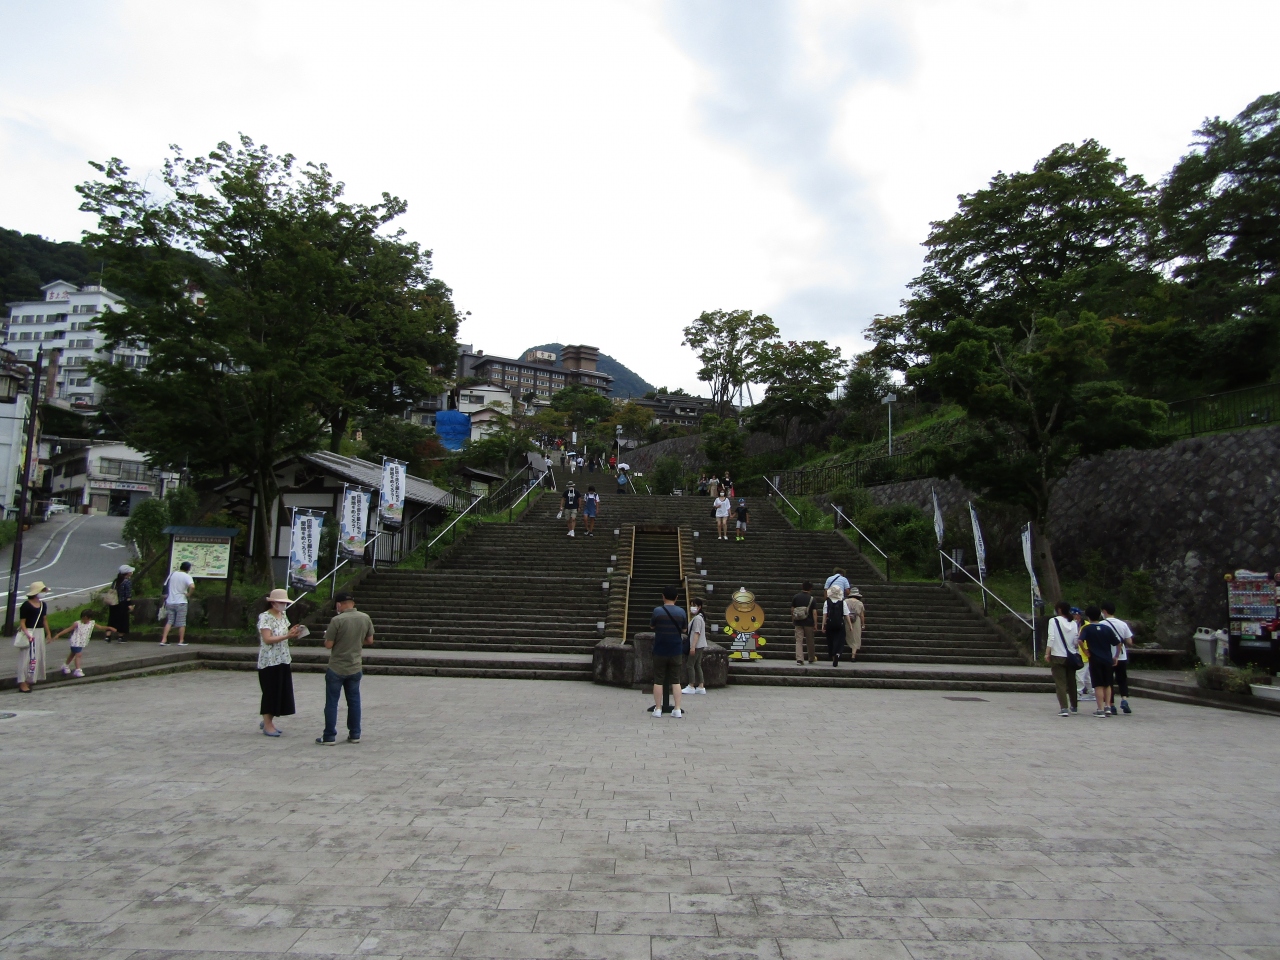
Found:
[[[984,439],[940,451],[938,471],[955,474],[986,499],[1019,504],[1037,521],[1044,593],[1061,596],[1044,529],[1050,492],[1082,454],[1161,442],[1167,408],[1107,379],[1110,329],[1092,314],[1075,323],[1039,317],[1023,337],[1007,326],[952,320],[925,338],[929,362],[913,383],[965,408]]]

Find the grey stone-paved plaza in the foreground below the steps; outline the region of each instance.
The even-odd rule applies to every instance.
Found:
[[[0,956],[1280,957],[1280,722],[252,673],[0,695]],[[343,735],[344,736],[344,735]]]

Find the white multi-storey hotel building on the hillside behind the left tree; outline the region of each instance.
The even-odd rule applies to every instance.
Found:
[[[114,353],[104,351],[97,317],[123,308],[124,300],[105,287],[87,284],[77,287],[67,280],[54,280],[41,287],[44,300],[6,303],[9,317],[4,326],[4,347],[18,355],[18,360],[35,360],[36,351],[45,349],[45,376],[49,376],[52,351],[58,351],[58,365],[52,384],[42,385],[41,393],[52,401],[72,407],[96,407],[102,399],[102,387],[90,375],[88,361],[109,360],[124,366],[146,366],[150,353],[143,348],[120,348]]]

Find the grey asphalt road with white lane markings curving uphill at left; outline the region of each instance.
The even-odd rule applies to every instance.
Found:
[[[23,536],[22,576],[18,589],[32,580],[52,588],[46,596],[52,609],[83,603],[91,588],[115,579],[132,550],[120,532],[124,517],[91,517],[74,513],[55,516],[46,524],[33,524]],[[13,547],[0,550],[0,603],[9,599],[9,570]],[[19,594],[20,596],[20,594]]]

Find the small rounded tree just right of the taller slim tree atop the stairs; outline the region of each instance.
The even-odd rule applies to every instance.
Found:
[[[794,424],[817,424],[831,412],[844,367],[840,347],[826,340],[763,344],[751,379],[768,385],[750,411],[753,425],[776,425],[786,444]]]

